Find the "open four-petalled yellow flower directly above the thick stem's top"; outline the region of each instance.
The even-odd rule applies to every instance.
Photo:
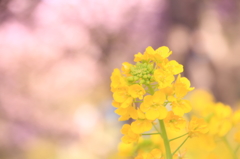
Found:
[[[144,97],[143,103],[140,105],[140,109],[146,112],[146,118],[148,120],[164,119],[167,116],[167,109],[164,107],[166,95],[157,91],[154,95],[147,95]]]

